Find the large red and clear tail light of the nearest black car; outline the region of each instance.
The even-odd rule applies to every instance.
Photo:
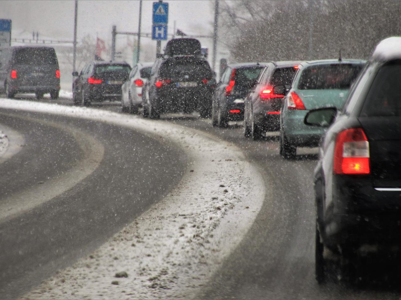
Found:
[[[369,174],[369,142],[362,128],[338,133],[334,147],[334,174]]]

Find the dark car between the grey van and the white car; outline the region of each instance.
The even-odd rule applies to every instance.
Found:
[[[84,66],[73,82],[75,105],[91,105],[92,101],[120,101],[121,86],[128,79],[131,66],[126,62],[90,62]]]

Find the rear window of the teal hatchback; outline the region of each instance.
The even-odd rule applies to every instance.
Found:
[[[310,66],[302,71],[299,90],[348,89],[362,70],[362,64]]]

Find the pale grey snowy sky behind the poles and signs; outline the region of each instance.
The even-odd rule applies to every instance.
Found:
[[[143,1],[142,32],[151,32],[152,2]],[[169,33],[173,32],[173,22],[176,20],[176,27],[184,32],[211,34],[214,13],[211,1],[166,2],[169,3]],[[136,32],[138,12],[138,0],[79,0],[78,39],[86,34],[97,34],[109,42],[112,25],[116,25],[117,30]],[[0,1],[0,18],[12,20],[13,38],[30,37],[34,30],[39,32],[39,38],[73,39],[73,0],[3,0]],[[24,30],[26,33],[23,33]]]

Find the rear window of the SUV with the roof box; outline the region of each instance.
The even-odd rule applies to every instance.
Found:
[[[185,79],[210,79],[212,71],[206,61],[197,62],[176,62],[167,61],[160,67],[160,77],[162,78],[188,78]]]

